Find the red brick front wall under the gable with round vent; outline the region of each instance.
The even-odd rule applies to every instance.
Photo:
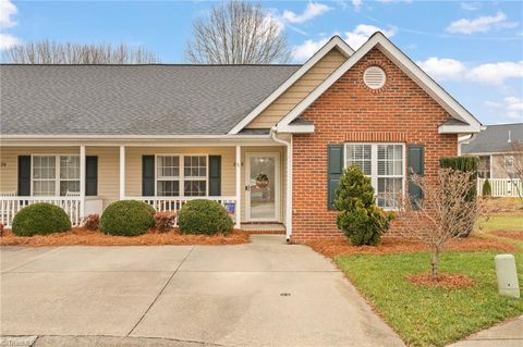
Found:
[[[363,83],[366,67],[378,65],[386,85],[373,90]],[[373,49],[303,114],[315,133],[293,138],[292,241],[343,237],[336,211],[327,209],[327,145],[405,142],[425,146],[425,174],[434,176],[438,159],[457,156],[457,135],[439,135],[450,116],[378,49]],[[406,163],[405,163],[406,164]],[[394,232],[392,226],[391,234]]]

